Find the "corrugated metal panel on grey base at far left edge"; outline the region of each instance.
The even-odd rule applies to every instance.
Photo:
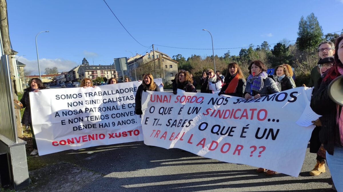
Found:
[[[18,143],[8,55],[1,56],[0,117],[0,140],[7,145]]]

